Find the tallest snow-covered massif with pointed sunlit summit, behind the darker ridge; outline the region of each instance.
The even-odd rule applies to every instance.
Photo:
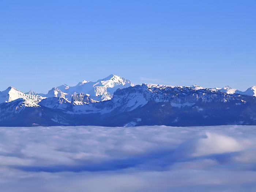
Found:
[[[114,91],[126,87],[134,86],[134,84],[117,75],[110,75],[104,79],[99,79],[97,82],[83,81],[79,82],[74,87],[69,87],[66,84],[57,87],[60,91],[67,94],[84,93],[89,94],[90,98],[95,101],[106,101],[112,98]]]

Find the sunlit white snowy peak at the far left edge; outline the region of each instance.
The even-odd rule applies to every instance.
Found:
[[[27,101],[27,103],[31,103],[31,105],[36,105],[36,103],[40,102],[43,99],[41,96],[38,95],[29,95],[22,93],[14,87],[8,87],[6,90],[0,92],[0,103],[11,102],[19,98],[24,99],[25,101]]]

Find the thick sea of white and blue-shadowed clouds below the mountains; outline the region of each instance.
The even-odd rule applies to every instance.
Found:
[[[254,192],[256,126],[1,127],[1,192]]]

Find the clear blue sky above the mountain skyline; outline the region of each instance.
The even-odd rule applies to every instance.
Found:
[[[110,74],[134,84],[256,86],[255,0],[0,0],[0,91]]]

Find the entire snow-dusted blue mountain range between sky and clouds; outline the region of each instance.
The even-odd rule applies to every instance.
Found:
[[[246,91],[193,86],[136,85],[110,75],[63,84],[47,94],[0,92],[0,126],[256,125],[256,86]]]

